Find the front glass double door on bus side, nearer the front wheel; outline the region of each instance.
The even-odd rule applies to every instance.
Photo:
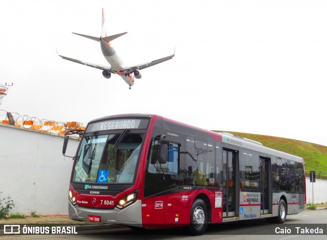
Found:
[[[223,149],[223,217],[236,217],[238,213],[236,210],[236,196],[239,188],[236,189],[236,166],[237,153],[235,150]]]

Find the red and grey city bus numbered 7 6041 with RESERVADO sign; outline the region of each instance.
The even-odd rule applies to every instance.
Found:
[[[305,209],[305,193],[301,157],[158,115],[114,115],[83,133],[69,217],[132,229],[188,226],[199,235],[209,223],[284,223]]]

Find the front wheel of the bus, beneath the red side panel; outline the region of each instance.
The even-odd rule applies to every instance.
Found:
[[[189,231],[192,235],[202,235],[208,226],[208,211],[202,199],[195,199],[191,208]]]

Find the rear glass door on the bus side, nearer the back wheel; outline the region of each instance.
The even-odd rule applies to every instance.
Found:
[[[271,166],[270,158],[260,157],[261,214],[271,213]],[[270,181],[269,181],[270,180]]]

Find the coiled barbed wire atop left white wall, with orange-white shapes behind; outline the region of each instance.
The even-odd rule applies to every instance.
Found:
[[[57,122],[54,120],[48,120],[45,118],[39,119],[37,117],[31,117],[29,115],[20,115],[17,112],[8,112],[6,110],[0,110],[0,123],[14,125],[16,127],[22,127],[27,129],[38,130],[42,132],[57,133],[64,135],[67,130],[82,129],[85,130],[82,123],[78,122]],[[79,135],[76,135],[79,137]]]

